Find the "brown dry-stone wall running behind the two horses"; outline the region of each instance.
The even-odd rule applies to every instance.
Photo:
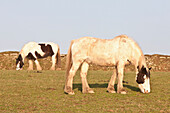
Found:
[[[18,52],[2,52],[0,53],[0,70],[15,70],[16,58]],[[152,71],[170,71],[170,56],[167,55],[145,55],[147,65],[152,67]],[[40,65],[44,70],[48,70],[51,67],[51,57],[39,59]],[[62,70],[65,69],[66,55],[61,55]],[[24,69],[28,68],[28,60],[25,60]],[[35,65],[34,65],[35,69]],[[90,70],[112,70],[113,67],[101,67],[97,65],[90,65]],[[128,65],[125,71],[134,71],[134,66]]]

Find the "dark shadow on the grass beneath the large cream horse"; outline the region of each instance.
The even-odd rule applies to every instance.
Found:
[[[104,83],[104,84],[89,84],[90,88],[107,88],[108,84]],[[124,87],[131,89],[132,91],[136,91],[136,92],[140,92],[140,89],[138,87],[134,87],[131,85],[123,85]],[[82,91],[82,84],[73,84],[73,89],[77,89],[79,91]],[[115,90],[117,91],[117,84],[114,85]]]

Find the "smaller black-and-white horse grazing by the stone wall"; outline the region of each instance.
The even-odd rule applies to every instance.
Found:
[[[16,59],[16,70],[22,69],[24,65],[24,59],[27,58],[29,62],[28,70],[33,70],[33,61],[36,64],[37,70],[42,70],[38,58],[52,57],[51,70],[55,70],[55,64],[57,63],[57,69],[61,69],[60,48],[57,44],[48,42],[38,44],[36,42],[29,42],[24,45]]]

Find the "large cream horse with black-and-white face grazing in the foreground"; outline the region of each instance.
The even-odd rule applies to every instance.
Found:
[[[118,77],[117,93],[126,94],[123,88],[123,74],[126,64],[136,68],[136,82],[142,93],[150,92],[150,69],[147,68],[145,57],[138,44],[126,35],[113,39],[98,39],[83,37],[72,40],[66,62],[66,82],[64,91],[73,95],[73,77],[81,66],[81,81],[83,93],[94,93],[87,83],[89,64],[115,66],[107,91],[116,93],[114,84]]]

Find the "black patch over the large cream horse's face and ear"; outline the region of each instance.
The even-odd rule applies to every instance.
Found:
[[[141,70],[137,74],[136,82],[138,84],[143,84],[145,82],[145,79],[144,79],[145,75],[146,75],[146,77],[150,78],[150,71],[147,72],[146,68],[144,66],[142,66]]]

